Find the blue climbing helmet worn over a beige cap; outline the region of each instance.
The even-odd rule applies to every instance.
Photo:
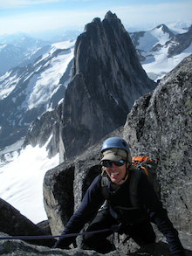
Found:
[[[111,137],[103,142],[100,149],[100,162],[104,160],[120,161],[124,157],[127,162],[132,163],[130,149],[125,140],[120,137]]]

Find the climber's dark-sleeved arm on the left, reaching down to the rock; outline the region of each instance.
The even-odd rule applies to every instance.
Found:
[[[62,235],[79,233],[83,226],[96,215],[99,207],[104,202],[104,197],[101,193],[101,176],[96,176],[93,180],[93,183],[86,190],[86,194],[79,206],[78,211],[76,211],[72,218],[68,221],[65,226],[64,232]],[[56,242],[53,248],[67,248],[72,244],[72,242],[76,239],[76,236],[70,238],[60,238]]]

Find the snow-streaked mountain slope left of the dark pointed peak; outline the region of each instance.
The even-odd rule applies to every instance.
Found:
[[[1,149],[25,136],[34,119],[64,97],[71,79],[74,43],[52,44],[32,64],[15,67],[0,77]]]

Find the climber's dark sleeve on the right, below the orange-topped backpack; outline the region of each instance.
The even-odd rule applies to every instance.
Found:
[[[170,252],[175,256],[186,255],[178,238],[178,232],[168,218],[167,212],[163,209],[153,186],[143,174],[138,184],[138,197],[139,201],[142,202],[144,210],[147,211],[147,216],[158,226],[160,232],[166,237]]]

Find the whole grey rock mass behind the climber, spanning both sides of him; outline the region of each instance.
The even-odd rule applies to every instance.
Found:
[[[168,210],[169,218],[182,232],[191,232],[192,228],[190,200],[192,193],[191,60],[192,56],[184,59],[179,66],[161,80],[154,92],[147,93],[137,100],[130,114],[127,115],[125,126],[115,130],[113,134],[107,135],[107,137],[123,136],[129,143],[133,156],[141,152],[151,158],[159,159],[158,175],[161,180],[161,200]],[[46,173],[45,209],[50,219],[52,232],[61,232],[67,219],[70,218],[70,211],[73,211],[66,206],[62,208],[62,205],[59,204],[62,197],[68,197],[68,191],[72,191],[72,188],[68,188],[69,182],[64,184],[63,179],[67,179],[66,175],[71,170],[72,200],[74,200],[74,211],[76,211],[88,185],[100,171],[99,149],[105,139],[106,137],[87,149],[84,154],[74,157]],[[72,184],[72,180],[70,183]],[[56,186],[61,190],[56,191]],[[65,186],[67,186],[66,190]]]

